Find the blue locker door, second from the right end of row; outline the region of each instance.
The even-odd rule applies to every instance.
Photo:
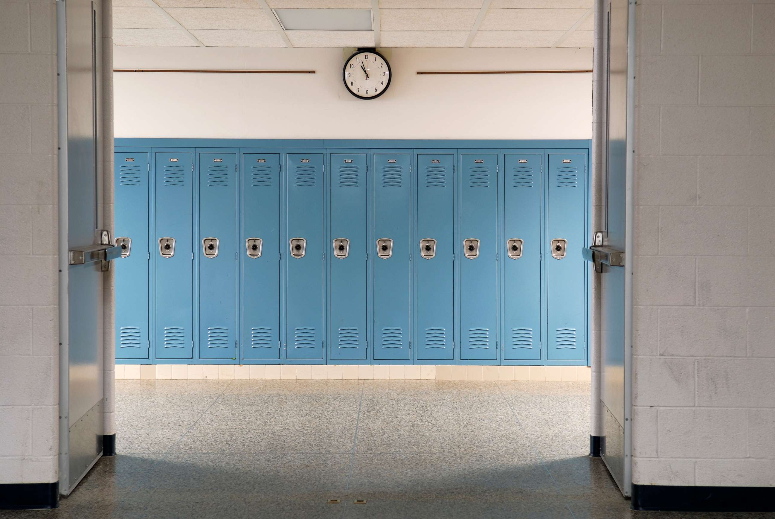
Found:
[[[504,164],[503,358],[541,358],[541,154],[507,154]]]

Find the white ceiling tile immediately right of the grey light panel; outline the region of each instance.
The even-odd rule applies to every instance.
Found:
[[[384,31],[470,31],[477,14],[478,9],[380,9],[380,28]]]

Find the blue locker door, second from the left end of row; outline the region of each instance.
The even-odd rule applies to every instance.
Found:
[[[155,358],[193,356],[193,164],[190,153],[157,153],[154,157]]]

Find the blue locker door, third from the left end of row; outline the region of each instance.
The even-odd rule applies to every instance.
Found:
[[[199,358],[236,358],[236,154],[199,154]]]

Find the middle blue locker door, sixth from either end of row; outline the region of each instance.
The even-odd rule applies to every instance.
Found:
[[[365,360],[367,160],[365,154],[332,154],[330,164],[331,358]]]

